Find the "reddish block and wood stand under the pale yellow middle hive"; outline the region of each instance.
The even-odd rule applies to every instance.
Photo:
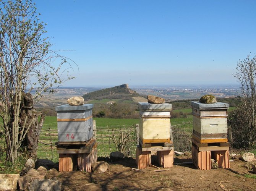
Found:
[[[151,164],[151,151],[157,152],[157,162],[161,167],[173,167],[173,142],[143,144],[139,139],[136,148],[137,168],[145,169]]]

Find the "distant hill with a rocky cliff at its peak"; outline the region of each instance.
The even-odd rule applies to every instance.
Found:
[[[120,86],[109,87],[94,92],[84,94],[82,97],[84,100],[92,99],[122,99],[132,100],[132,97],[141,96],[136,91],[131,90],[128,84],[122,84]]]

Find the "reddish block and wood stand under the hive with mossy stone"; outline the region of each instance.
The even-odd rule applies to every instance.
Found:
[[[229,165],[229,143],[199,143],[192,140],[192,160],[196,168],[211,170],[211,159],[217,160],[219,168],[230,168]]]

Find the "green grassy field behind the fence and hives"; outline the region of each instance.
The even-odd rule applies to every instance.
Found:
[[[190,116],[189,116],[190,117]],[[97,141],[98,141],[98,156],[109,156],[109,153],[116,151],[115,145],[109,134],[112,134],[112,129],[128,129],[139,123],[139,119],[113,119],[113,118],[94,118],[96,120]],[[171,119],[172,126],[180,125],[181,128],[191,129],[192,123],[188,123],[192,118],[177,118]],[[135,127],[134,127],[135,129]],[[53,133],[53,136],[46,135]],[[40,134],[38,157],[40,159],[50,159],[58,162],[58,154],[54,146],[58,142],[57,136],[57,117],[45,117],[44,126]],[[46,144],[43,144],[46,143]],[[52,145],[52,146],[51,146]]]

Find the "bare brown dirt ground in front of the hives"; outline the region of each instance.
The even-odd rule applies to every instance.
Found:
[[[174,166],[170,170],[155,172],[150,167],[138,172],[135,159],[124,158],[117,162],[109,162],[110,171],[105,173],[58,172],[49,171],[47,178],[62,182],[64,191],[74,190],[256,190],[256,179],[244,175],[255,175],[244,167],[245,162],[234,160],[230,169],[197,170],[191,156],[174,158]],[[184,163],[185,162],[185,163]],[[151,163],[154,162],[152,156]]]

